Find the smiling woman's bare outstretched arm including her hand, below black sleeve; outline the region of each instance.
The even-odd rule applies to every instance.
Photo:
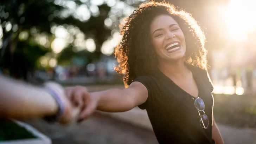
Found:
[[[140,82],[133,82],[126,89],[110,89],[89,93],[86,87],[66,87],[66,95],[83,107],[79,121],[87,119],[95,110],[123,112],[143,104],[148,98],[147,88]]]

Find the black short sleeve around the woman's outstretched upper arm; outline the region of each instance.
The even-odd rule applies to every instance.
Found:
[[[142,83],[148,90],[148,98],[146,102],[138,106],[140,109],[145,110],[147,106],[152,102],[153,79],[150,76],[140,76],[135,78],[132,83],[134,81]]]

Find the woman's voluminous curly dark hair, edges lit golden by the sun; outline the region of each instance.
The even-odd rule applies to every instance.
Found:
[[[170,15],[178,22],[186,41],[186,62],[207,69],[204,48],[205,35],[197,21],[184,10],[178,11],[173,5],[165,2],[150,1],[141,4],[129,17],[120,24],[122,40],[115,49],[118,65],[115,70],[124,74],[126,87],[139,76],[149,74],[157,66],[156,54],[151,44],[149,27],[158,15]]]

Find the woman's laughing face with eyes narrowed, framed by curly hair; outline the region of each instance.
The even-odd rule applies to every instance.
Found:
[[[171,16],[155,17],[150,26],[150,34],[159,59],[174,61],[184,57],[185,37],[178,23]]]

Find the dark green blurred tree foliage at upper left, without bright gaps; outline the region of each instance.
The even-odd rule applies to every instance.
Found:
[[[66,2],[66,5],[64,4]],[[70,4],[67,4],[69,2]],[[0,42],[2,38],[4,57],[1,58],[0,67],[9,68],[10,71],[28,71],[38,67],[39,58],[48,52],[52,52],[51,42],[55,39],[52,33],[52,26],[76,27],[95,41],[96,52],[90,54],[86,52],[84,57],[89,61],[98,58],[100,47],[103,42],[111,36],[111,29],[104,26],[104,20],[108,18],[110,7],[107,4],[97,6],[99,14],[90,16],[88,20],[81,20],[72,12],[70,5],[79,8],[84,5],[90,7],[90,2],[79,0],[1,0],[0,2],[0,24],[2,25],[2,36],[0,32]],[[90,13],[90,11],[88,11]],[[65,14],[68,13],[68,14]],[[118,20],[118,19],[117,19]],[[12,30],[6,31],[7,25],[11,24]],[[26,32],[24,34],[24,32]],[[11,35],[11,39],[9,36]],[[23,37],[22,37],[23,35]],[[48,44],[40,44],[38,37],[44,35]],[[76,39],[75,35],[71,35]],[[72,44],[72,45],[71,45]],[[53,58],[58,58],[60,63],[71,61],[77,55],[73,51],[73,43],[69,43],[63,53],[52,54]],[[15,67],[15,68],[14,68]]]

